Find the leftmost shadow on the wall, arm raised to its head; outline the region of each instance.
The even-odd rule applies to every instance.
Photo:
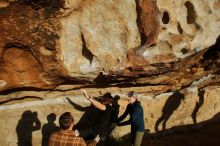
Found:
[[[40,130],[41,123],[37,112],[25,111],[16,127],[18,146],[32,146],[32,132]]]

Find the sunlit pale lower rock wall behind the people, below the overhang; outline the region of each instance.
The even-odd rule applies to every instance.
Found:
[[[121,97],[118,101],[120,105],[119,115],[125,111],[127,104],[125,93],[129,89],[87,90],[93,96],[99,96],[100,94],[97,93],[104,93],[108,90],[113,91],[113,95]],[[140,93],[139,101],[141,101],[144,108],[146,134],[198,129],[203,125],[219,121],[219,94],[219,86],[207,87],[204,90],[192,87],[183,90],[181,93],[167,92],[160,95]],[[38,97],[33,95],[38,95]],[[91,115],[95,116],[94,111],[86,110],[90,103],[77,91],[32,91],[32,93],[22,91],[7,96],[25,97],[26,101],[24,102],[22,99],[8,101],[0,106],[0,115],[3,117],[0,119],[2,124],[0,133],[5,135],[0,137],[1,145],[16,146],[19,141],[25,143],[29,141],[32,145],[38,146],[41,143],[47,142],[46,139],[50,131],[59,125],[59,116],[64,111],[69,111],[74,115],[76,124],[81,120],[82,116],[86,123],[98,120],[97,118],[92,118],[91,120]],[[41,97],[44,97],[44,99]],[[70,104],[67,97],[75,105]],[[39,127],[36,127],[37,121],[40,122]],[[201,124],[203,122],[207,123]],[[181,128],[184,125],[187,128]],[[120,139],[120,137],[128,133],[130,133],[130,126],[117,127],[113,131],[113,136],[116,139]]]

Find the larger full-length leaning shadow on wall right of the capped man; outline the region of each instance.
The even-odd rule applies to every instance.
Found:
[[[181,94],[179,91],[174,92],[166,101],[164,107],[163,107],[163,114],[161,117],[157,120],[155,124],[155,131],[158,131],[158,127],[161,122],[163,122],[162,130],[166,129],[166,122],[170,118],[170,116],[173,114],[173,112],[180,106],[181,100],[184,99],[184,94]]]

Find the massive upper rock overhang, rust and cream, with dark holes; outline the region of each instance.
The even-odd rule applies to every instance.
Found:
[[[66,81],[95,84],[106,77],[106,84],[137,82],[133,78],[140,75],[183,69],[181,62],[201,60],[201,52],[215,44],[219,19],[214,0],[3,1],[0,78],[6,84],[0,90],[54,88]],[[35,65],[26,62],[27,69],[14,63],[16,69],[8,69],[7,50],[15,57],[13,49],[25,52],[21,58],[33,58]],[[21,77],[31,70],[37,77]]]

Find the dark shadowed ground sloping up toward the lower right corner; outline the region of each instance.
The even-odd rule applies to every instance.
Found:
[[[200,130],[148,137],[143,141],[142,146],[220,146],[220,123]]]

